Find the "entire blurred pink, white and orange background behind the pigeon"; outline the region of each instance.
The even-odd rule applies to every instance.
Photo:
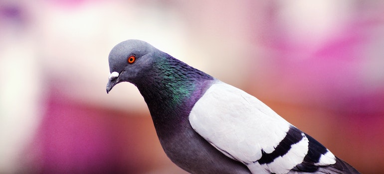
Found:
[[[186,174],[129,83],[127,39],[258,97],[360,172],[384,173],[382,0],[0,0],[0,174]]]

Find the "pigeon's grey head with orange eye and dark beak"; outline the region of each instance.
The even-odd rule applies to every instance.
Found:
[[[108,58],[111,74],[107,93],[120,82],[135,84],[151,69],[155,50],[152,45],[141,40],[126,40],[113,47]]]

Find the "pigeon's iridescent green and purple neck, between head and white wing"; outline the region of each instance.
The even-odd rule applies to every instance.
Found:
[[[213,80],[168,54],[159,56],[147,73],[146,79],[136,86],[147,102],[156,128],[168,124],[177,127],[188,121],[194,103]]]

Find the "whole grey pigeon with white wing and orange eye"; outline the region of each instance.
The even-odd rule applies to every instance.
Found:
[[[141,40],[112,48],[107,93],[143,95],[160,143],[191,174],[359,174],[245,91]]]

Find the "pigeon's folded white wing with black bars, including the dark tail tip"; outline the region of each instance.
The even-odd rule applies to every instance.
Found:
[[[195,103],[192,128],[253,174],[358,174],[256,97],[217,81]]]

